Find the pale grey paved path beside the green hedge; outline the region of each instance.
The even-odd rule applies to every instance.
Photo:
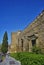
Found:
[[[21,65],[21,63],[10,56],[6,56],[5,60],[1,62],[0,65]]]

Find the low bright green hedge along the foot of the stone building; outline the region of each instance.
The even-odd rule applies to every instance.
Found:
[[[22,65],[44,65],[44,54],[21,52],[11,53],[10,56],[19,60]]]

